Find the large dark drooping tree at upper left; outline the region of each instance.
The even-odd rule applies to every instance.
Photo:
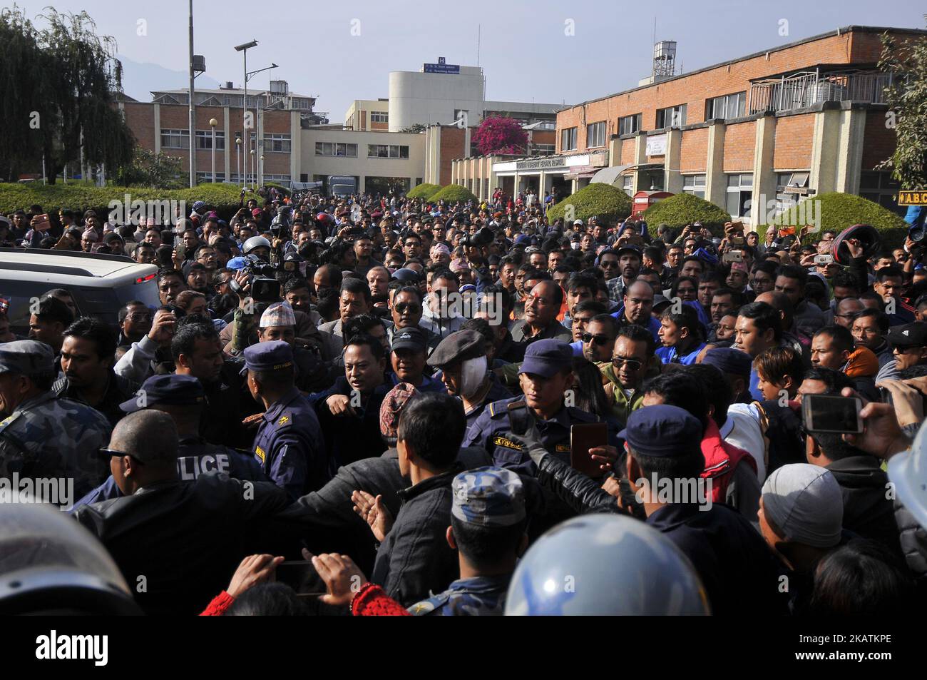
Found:
[[[86,12],[40,15],[39,30],[17,6],[0,12],[0,162],[11,178],[34,168],[44,154],[54,183],[66,163],[132,160],[134,139],[117,109],[122,68],[116,42],[98,36]]]

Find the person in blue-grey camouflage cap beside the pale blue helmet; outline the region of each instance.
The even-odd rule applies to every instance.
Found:
[[[447,590],[409,608],[414,615],[501,615],[518,556],[527,547],[525,489],[503,468],[476,468],[451,481],[448,543],[460,557],[461,578]],[[481,554],[480,546],[496,546]]]

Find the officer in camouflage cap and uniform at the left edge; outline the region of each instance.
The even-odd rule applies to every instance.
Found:
[[[81,496],[106,478],[97,452],[110,427],[90,406],[57,398],[51,391],[56,373],[55,354],[43,342],[0,345],[0,478],[70,480],[67,495]],[[53,500],[67,505],[73,499]]]

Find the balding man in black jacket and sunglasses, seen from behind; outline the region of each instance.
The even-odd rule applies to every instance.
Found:
[[[243,555],[270,552],[260,532],[289,504],[286,492],[217,472],[181,481],[168,414],[146,409],[122,418],[106,452],[123,495],[74,516],[106,546],[146,613],[196,614]]]

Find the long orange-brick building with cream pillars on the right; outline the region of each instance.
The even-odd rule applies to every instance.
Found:
[[[892,74],[877,69],[884,32],[902,42],[927,34],[850,26],[645,79],[559,110],[555,156],[499,160],[478,177],[489,177],[490,193],[511,176],[507,186],[532,186],[543,196],[553,174],[570,182],[567,194],[590,181],[631,195],[687,192],[751,224],[831,191],[896,209],[898,187],[875,169],[895,148],[883,96]],[[454,161],[454,181],[466,186],[471,167],[477,172],[476,160]]]

